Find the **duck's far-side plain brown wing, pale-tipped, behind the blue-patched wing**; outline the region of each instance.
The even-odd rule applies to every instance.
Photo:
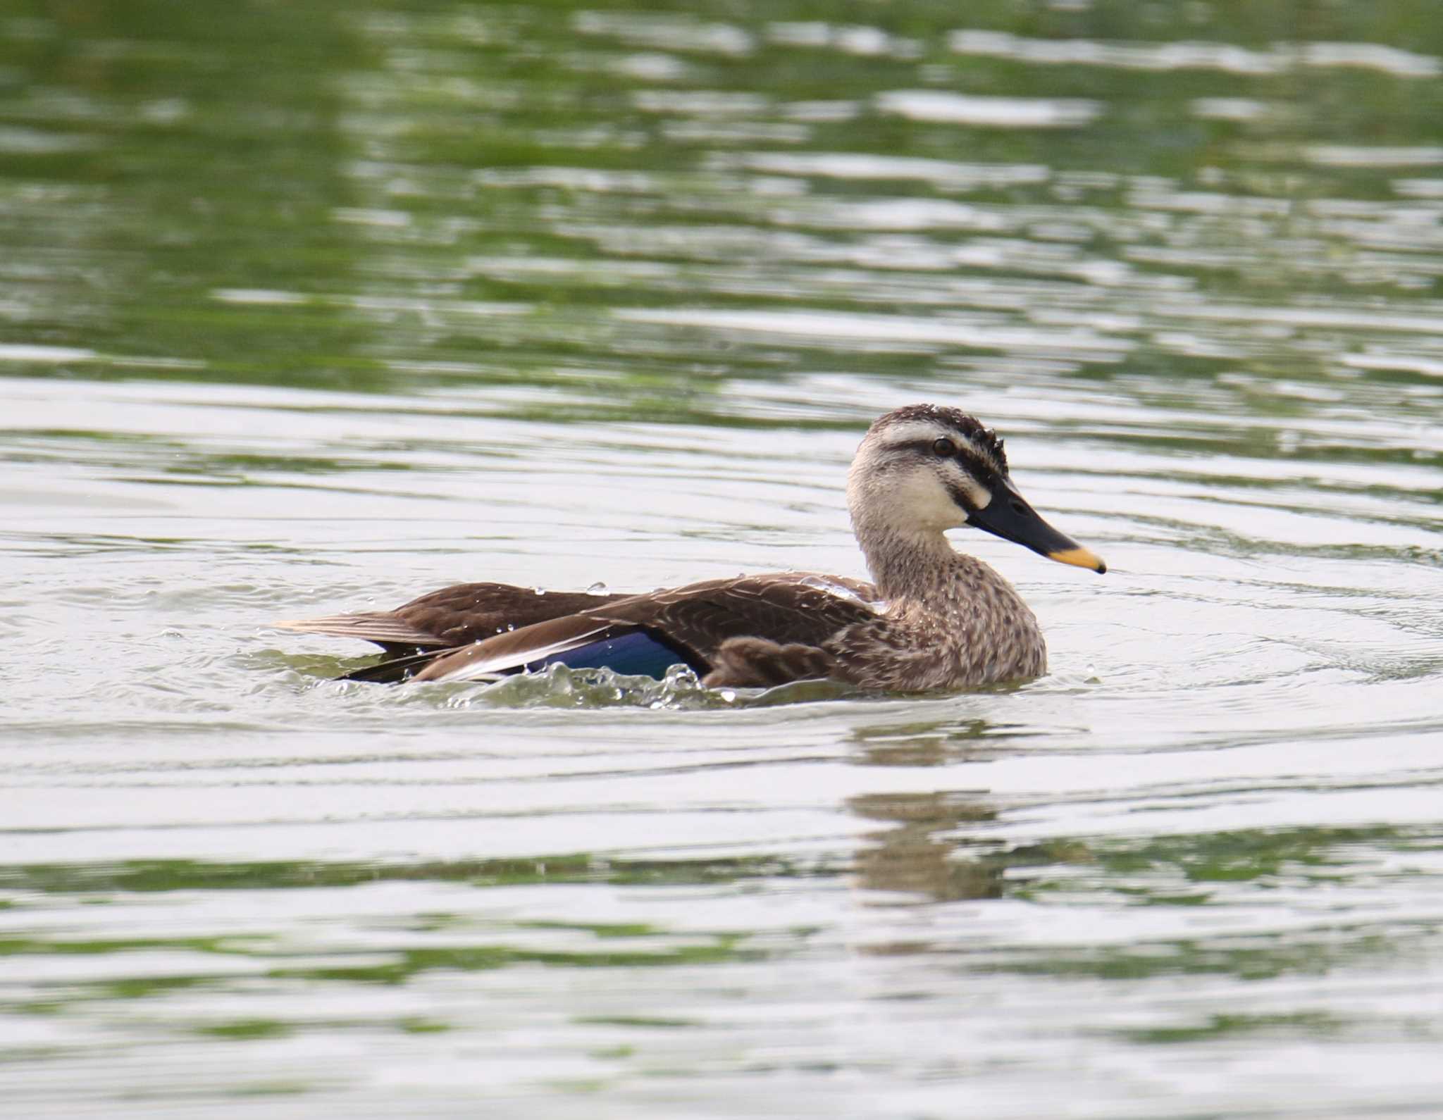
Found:
[[[273,625],[303,634],[362,638],[388,654],[447,649],[551,618],[605,606],[625,595],[538,592],[509,583],[457,583],[394,611],[306,618]]]

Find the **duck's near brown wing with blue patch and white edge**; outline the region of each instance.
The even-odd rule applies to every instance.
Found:
[[[424,658],[416,680],[485,680],[524,668],[563,662],[661,675],[687,664],[710,675],[734,639],[762,642],[755,658],[768,671],[727,673],[719,684],[778,684],[827,675],[821,644],[843,628],[876,618],[870,583],[835,576],[781,573],[707,580],[635,595],[567,618],[548,619]],[[765,648],[763,648],[765,647]],[[750,647],[747,647],[750,648]],[[776,652],[784,651],[784,652]],[[645,667],[642,667],[645,665]],[[788,671],[778,665],[791,665]],[[364,671],[364,670],[362,670]]]

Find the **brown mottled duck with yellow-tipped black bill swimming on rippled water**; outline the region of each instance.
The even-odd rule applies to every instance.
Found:
[[[870,580],[778,572],[639,595],[460,583],[394,611],[274,625],[380,645],[384,661],[342,678],[355,681],[499,680],[556,664],[662,678],[684,665],[709,688],[830,678],[928,693],[1046,673],[1032,609],[948,530],[1107,572],[1022,496],[996,430],[951,406],[879,417],[847,473],[847,508]]]

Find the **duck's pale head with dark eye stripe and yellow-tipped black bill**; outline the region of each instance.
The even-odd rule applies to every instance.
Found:
[[[1038,515],[1012,484],[997,433],[960,408],[909,404],[880,417],[851,462],[847,504],[859,535],[975,525],[1049,560],[1107,572],[1101,557]]]

